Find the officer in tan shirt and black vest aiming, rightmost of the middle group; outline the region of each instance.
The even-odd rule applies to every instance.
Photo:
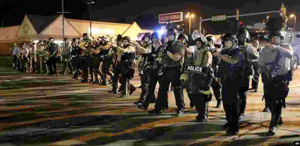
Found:
[[[119,63],[122,64],[121,69],[121,76],[122,76],[122,96],[121,98],[126,98],[129,96],[130,91],[130,79],[133,79],[134,76],[134,69],[132,68],[133,61],[134,61],[134,54],[135,54],[135,47],[130,42],[131,39],[128,36],[123,37],[123,47],[121,48],[119,46],[113,45],[114,47],[117,47],[118,52],[118,58],[117,60]]]

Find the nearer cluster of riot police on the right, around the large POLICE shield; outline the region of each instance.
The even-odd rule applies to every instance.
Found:
[[[238,133],[238,121],[244,118],[246,108],[247,91],[249,89],[250,78],[253,77],[252,62],[257,61],[259,54],[253,46],[248,44],[250,35],[247,30],[240,29],[236,34],[222,34],[223,49],[215,49],[213,47],[214,38],[208,36],[210,41],[207,41],[202,34],[195,39],[196,46],[187,48],[188,38],[186,35],[178,35],[176,29],[170,28],[167,30],[169,41],[160,48],[153,45],[152,50],[148,51],[136,43],[137,48],[142,49],[146,58],[150,56],[160,56],[162,62],[156,59],[150,59],[149,64],[143,67],[151,72],[155,70],[154,63],[161,63],[163,66],[162,75],[159,77],[160,88],[158,98],[155,104],[155,109],[149,111],[152,115],[161,115],[163,106],[167,103],[167,91],[170,82],[174,84],[174,94],[176,98],[177,115],[183,115],[183,88],[187,88],[190,94],[189,98],[196,106],[199,113],[196,121],[203,122],[208,119],[208,102],[211,101],[210,87],[214,82],[222,85],[223,108],[226,113],[227,123],[223,125],[228,133]],[[285,107],[285,98],[288,94],[288,82],[292,78],[292,70],[289,68],[290,58],[292,57],[292,48],[288,45],[283,45],[285,34],[284,31],[270,31],[270,42],[262,51],[262,56],[259,58],[259,65],[264,76],[263,82],[265,87],[264,97],[267,100],[267,106],[271,109],[272,120],[269,132],[276,133],[277,125],[283,124],[281,118],[281,109]],[[156,34],[152,35],[156,39]],[[153,41],[153,40],[152,40]],[[159,53],[157,51],[159,50]],[[184,62],[184,53],[192,54],[192,57]],[[271,58],[268,56],[272,56]],[[213,61],[213,57],[220,58],[220,65],[216,72],[218,61]],[[268,59],[266,59],[268,58]],[[159,59],[158,59],[159,60]],[[265,60],[270,60],[269,62]],[[275,61],[274,61],[275,60]],[[146,61],[146,60],[145,60]],[[272,62],[273,61],[273,62]],[[214,63],[213,63],[214,62]],[[216,65],[213,65],[216,64]],[[146,68],[146,69],[145,69]],[[149,84],[154,87],[157,83],[157,73],[155,76],[148,79]],[[266,75],[267,74],[267,75]],[[148,82],[146,82],[148,83]],[[147,84],[146,84],[147,87]],[[220,89],[220,88],[217,88]],[[276,92],[270,92],[273,89]],[[153,90],[148,92],[149,97],[152,97]],[[218,94],[217,94],[218,95]],[[138,107],[147,109],[151,98],[148,96],[142,98],[138,103]],[[220,104],[220,102],[218,102]],[[218,105],[217,105],[218,106]]]

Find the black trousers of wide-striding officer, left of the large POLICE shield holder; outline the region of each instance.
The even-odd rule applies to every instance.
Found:
[[[158,98],[155,104],[155,109],[161,110],[167,102],[167,94],[169,90],[170,83],[174,85],[174,95],[176,99],[176,106],[178,109],[184,109],[183,103],[183,91],[180,89],[182,82],[180,76],[182,75],[182,70],[180,67],[165,67],[164,73],[162,75],[162,85],[158,90]]]

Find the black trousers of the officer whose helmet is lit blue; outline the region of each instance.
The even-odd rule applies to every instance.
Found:
[[[149,104],[152,102],[152,100],[155,100],[155,88],[157,83],[159,84],[159,88],[161,88],[163,84],[161,82],[161,76],[158,76],[158,70],[157,69],[149,70],[149,87],[148,87],[149,89],[148,89],[148,94],[144,101],[144,107],[149,107]],[[167,101],[164,102],[167,104]]]

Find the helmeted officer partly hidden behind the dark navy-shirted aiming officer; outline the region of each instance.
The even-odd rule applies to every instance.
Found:
[[[250,76],[253,77],[254,70],[252,62],[257,61],[259,58],[259,53],[256,51],[256,49],[248,44],[250,40],[250,34],[248,31],[244,28],[239,29],[237,34],[238,38],[238,47],[242,49],[246,53],[247,60],[245,61],[245,72],[244,72],[244,82],[241,85],[240,91],[239,91],[239,97],[240,97],[240,113],[239,118],[244,118],[244,113],[246,109],[247,104],[247,91],[249,90],[249,84],[250,84]]]

